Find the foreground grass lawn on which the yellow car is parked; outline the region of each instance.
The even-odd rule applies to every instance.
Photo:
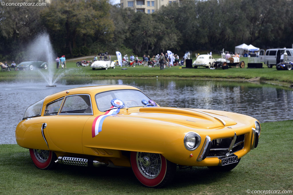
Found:
[[[28,149],[0,145],[0,194],[247,194],[246,190],[293,190],[293,120],[262,123],[259,145],[226,173],[177,170],[164,189],[139,184],[131,169],[58,165],[37,169]]]

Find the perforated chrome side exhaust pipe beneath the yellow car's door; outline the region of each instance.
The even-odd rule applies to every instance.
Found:
[[[57,162],[64,165],[77,165],[82,167],[94,166],[100,167],[102,165],[109,165],[108,163],[102,163],[99,161],[92,161],[87,158],[76,158],[68,156],[59,156]]]

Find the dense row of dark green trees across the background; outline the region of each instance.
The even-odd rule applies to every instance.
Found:
[[[108,0],[1,6],[0,60],[22,60],[25,46],[41,32],[50,35],[57,55],[71,57],[117,50],[137,55],[231,50],[242,43],[289,48],[292,13],[293,4],[286,0],[186,0],[152,14],[120,8]]]

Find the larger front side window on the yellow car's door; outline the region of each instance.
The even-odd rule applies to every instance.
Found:
[[[59,115],[92,115],[89,95],[72,95],[65,97]]]

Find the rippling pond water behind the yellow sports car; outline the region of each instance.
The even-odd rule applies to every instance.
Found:
[[[16,144],[15,129],[25,109],[44,97],[67,89],[126,84],[141,89],[160,106],[236,112],[260,122],[290,120],[293,91],[270,84],[176,79],[63,79],[57,87],[35,80],[0,81],[0,144]]]

